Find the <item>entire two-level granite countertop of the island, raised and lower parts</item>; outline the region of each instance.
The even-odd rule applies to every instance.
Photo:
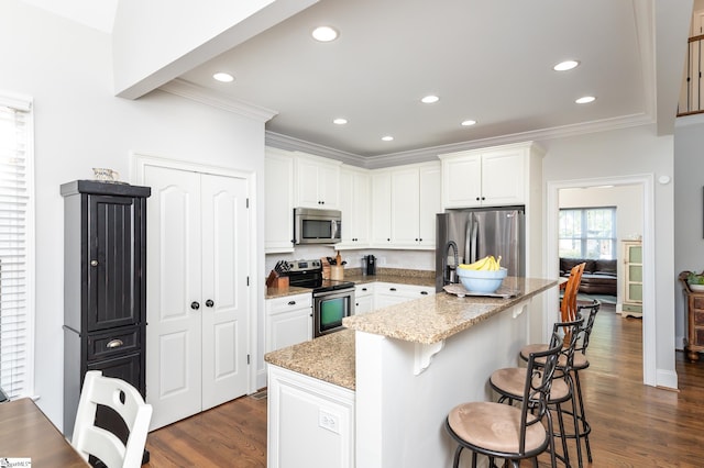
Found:
[[[384,280],[385,281],[385,280]],[[363,315],[343,319],[348,330],[268,353],[266,363],[350,390],[355,389],[355,331],[420,344],[433,344],[490,319],[558,285],[558,280],[514,278],[502,290],[515,298],[457,297],[440,292]]]

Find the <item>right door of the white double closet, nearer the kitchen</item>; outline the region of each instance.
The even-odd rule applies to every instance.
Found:
[[[248,390],[246,196],[244,179],[210,175],[201,178],[204,410]]]

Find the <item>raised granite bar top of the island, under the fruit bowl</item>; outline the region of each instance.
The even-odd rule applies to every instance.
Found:
[[[344,317],[345,327],[406,342],[433,344],[487,320],[558,283],[537,278],[504,279],[503,290],[518,291],[514,298],[463,297],[440,292],[363,315]]]

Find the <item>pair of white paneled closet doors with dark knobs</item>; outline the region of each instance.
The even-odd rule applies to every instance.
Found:
[[[248,391],[243,178],[146,166],[146,399],[154,430]]]

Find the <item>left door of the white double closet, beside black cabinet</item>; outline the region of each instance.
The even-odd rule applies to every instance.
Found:
[[[151,428],[201,409],[200,176],[147,166],[146,399]]]

